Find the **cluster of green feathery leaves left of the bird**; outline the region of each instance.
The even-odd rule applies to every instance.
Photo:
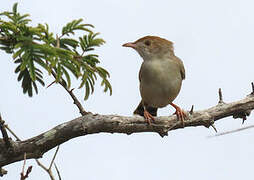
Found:
[[[37,84],[45,85],[43,70],[46,70],[55,77],[56,83],[61,82],[68,89],[72,77],[80,80],[79,88],[85,89],[84,99],[93,93],[98,76],[104,91],[112,94],[108,71],[98,66],[98,55],[91,53],[105,43],[92,31],[93,25],[84,24],[82,19],[73,20],[57,37],[47,24],[29,26],[28,17],[29,14],[17,12],[17,3],[11,12],[0,13],[0,49],[12,54],[24,93],[29,96],[34,91],[38,93]],[[81,31],[83,36],[75,38],[76,31]]]

